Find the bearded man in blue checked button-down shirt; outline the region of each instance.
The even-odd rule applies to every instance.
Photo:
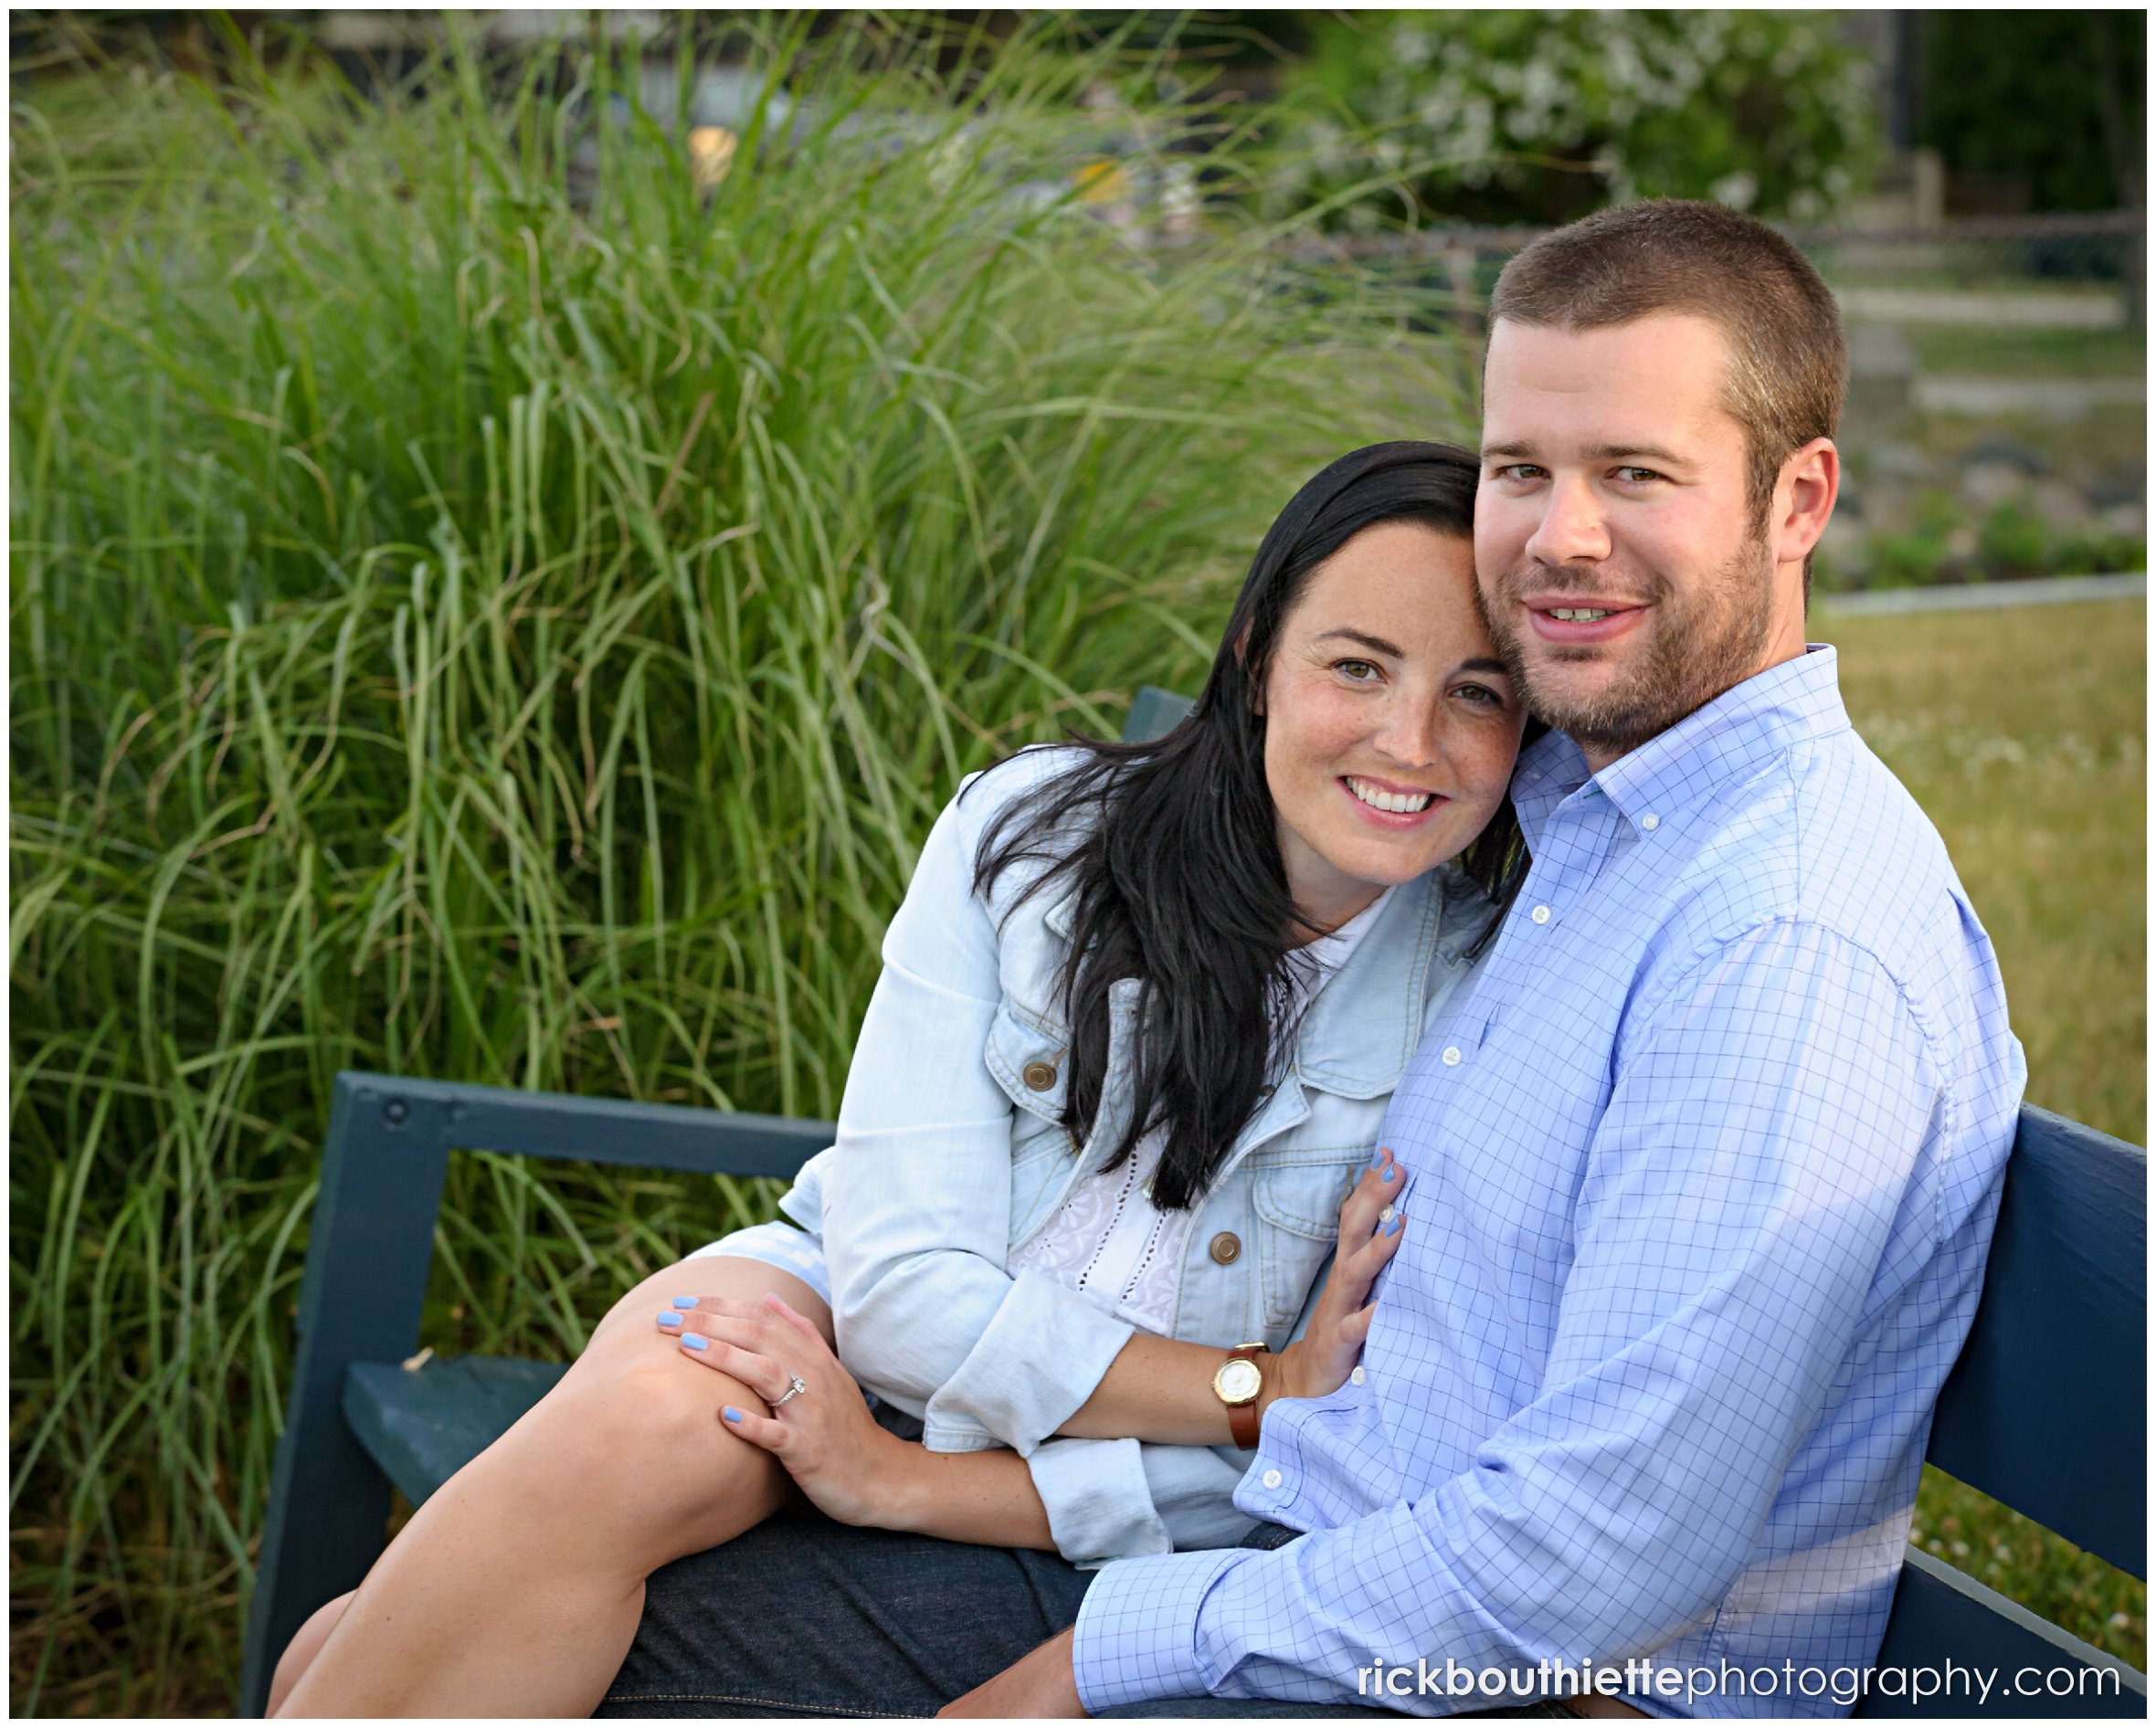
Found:
[[[1559,730],[1514,782],[1520,898],[1386,1120],[1412,1228],[1363,1370],[1268,1413],[1238,1504],[1274,1545],[1102,1569],[955,1713],[1451,1713],[1583,1666],[1589,1709],[1848,1709],[2024,1069],[1936,832],[1805,646],[1843,377],[1818,274],[1714,207],[1604,211],[1498,280],[1477,571]],[[951,1579],[893,1599],[1005,1588]]]

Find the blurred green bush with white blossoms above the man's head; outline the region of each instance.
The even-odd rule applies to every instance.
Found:
[[[1298,159],[1276,207],[1341,222],[1563,222],[1611,200],[1714,198],[1815,218],[1878,151],[1869,67],[1830,13],[1335,13],[1296,78]]]

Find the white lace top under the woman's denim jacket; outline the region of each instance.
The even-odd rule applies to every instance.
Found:
[[[1302,1019],[1311,998],[1348,963],[1388,898],[1391,888],[1302,950],[1309,965],[1296,974],[1285,1026]],[[1041,1228],[1011,1250],[1005,1271],[1015,1278],[1033,1269],[1141,1332],[1166,1336],[1175,1321],[1184,1237],[1197,1207],[1171,1213],[1153,1204],[1147,1189],[1164,1148],[1166,1133],[1153,1129],[1115,1170],[1080,1176]]]

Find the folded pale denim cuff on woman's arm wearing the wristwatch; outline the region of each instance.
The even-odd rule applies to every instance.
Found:
[[[957,1372],[929,1398],[923,1439],[957,1452],[985,1429],[1031,1457],[1093,1396],[1134,1329],[1037,1271],[1018,1273]]]

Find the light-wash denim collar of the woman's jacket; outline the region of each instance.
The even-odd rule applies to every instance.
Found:
[[[1440,864],[1386,901],[1376,926],[1302,1015],[1294,1056],[1300,1084],[1341,1099],[1373,1099],[1399,1086],[1423,1036],[1423,993],[1449,892],[1475,890],[1453,866]],[[1069,894],[1041,914],[1063,942],[1069,942]]]

